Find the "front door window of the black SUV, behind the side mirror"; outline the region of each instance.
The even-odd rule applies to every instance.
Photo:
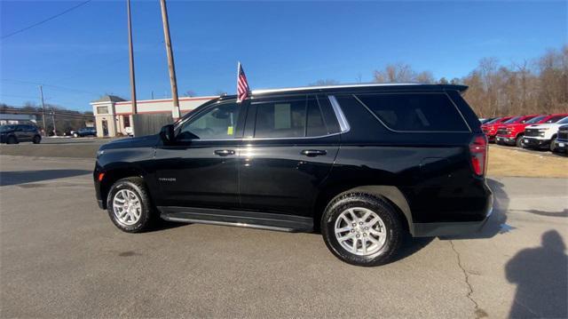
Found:
[[[191,140],[192,134],[200,140],[233,139],[239,111],[240,107],[236,103],[209,108],[183,124],[176,140]]]

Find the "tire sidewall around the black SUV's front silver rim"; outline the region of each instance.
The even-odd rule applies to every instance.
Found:
[[[116,219],[116,216],[114,216],[113,198],[116,193],[123,189],[133,191],[138,196],[140,205],[142,206],[142,209],[140,210],[140,219],[138,219],[138,221],[133,225],[123,225]],[[130,181],[129,179],[120,179],[114,183],[113,187],[111,187],[106,197],[106,207],[108,216],[113,221],[114,225],[120,228],[122,231],[128,233],[137,233],[142,231],[152,218],[152,206],[149,198],[147,198],[146,190],[143,189],[142,186]]]

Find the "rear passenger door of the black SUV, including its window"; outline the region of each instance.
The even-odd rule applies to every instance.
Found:
[[[339,147],[327,98],[254,99],[239,160],[243,209],[311,216]]]

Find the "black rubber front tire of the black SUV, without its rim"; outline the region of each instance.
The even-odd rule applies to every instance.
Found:
[[[119,191],[127,189],[135,193],[138,196],[138,200],[141,203],[140,218],[133,225],[125,225],[114,215],[114,195]],[[108,216],[113,220],[114,226],[118,227],[127,233],[140,233],[153,227],[155,224],[155,219],[157,219],[157,213],[154,209],[154,205],[150,200],[150,195],[144,183],[144,179],[139,177],[130,177],[126,179],[117,180],[108,192],[106,197],[106,207],[108,211]]]

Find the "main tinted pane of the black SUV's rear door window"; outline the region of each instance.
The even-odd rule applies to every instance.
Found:
[[[256,138],[305,136],[306,100],[282,100],[256,105]]]

